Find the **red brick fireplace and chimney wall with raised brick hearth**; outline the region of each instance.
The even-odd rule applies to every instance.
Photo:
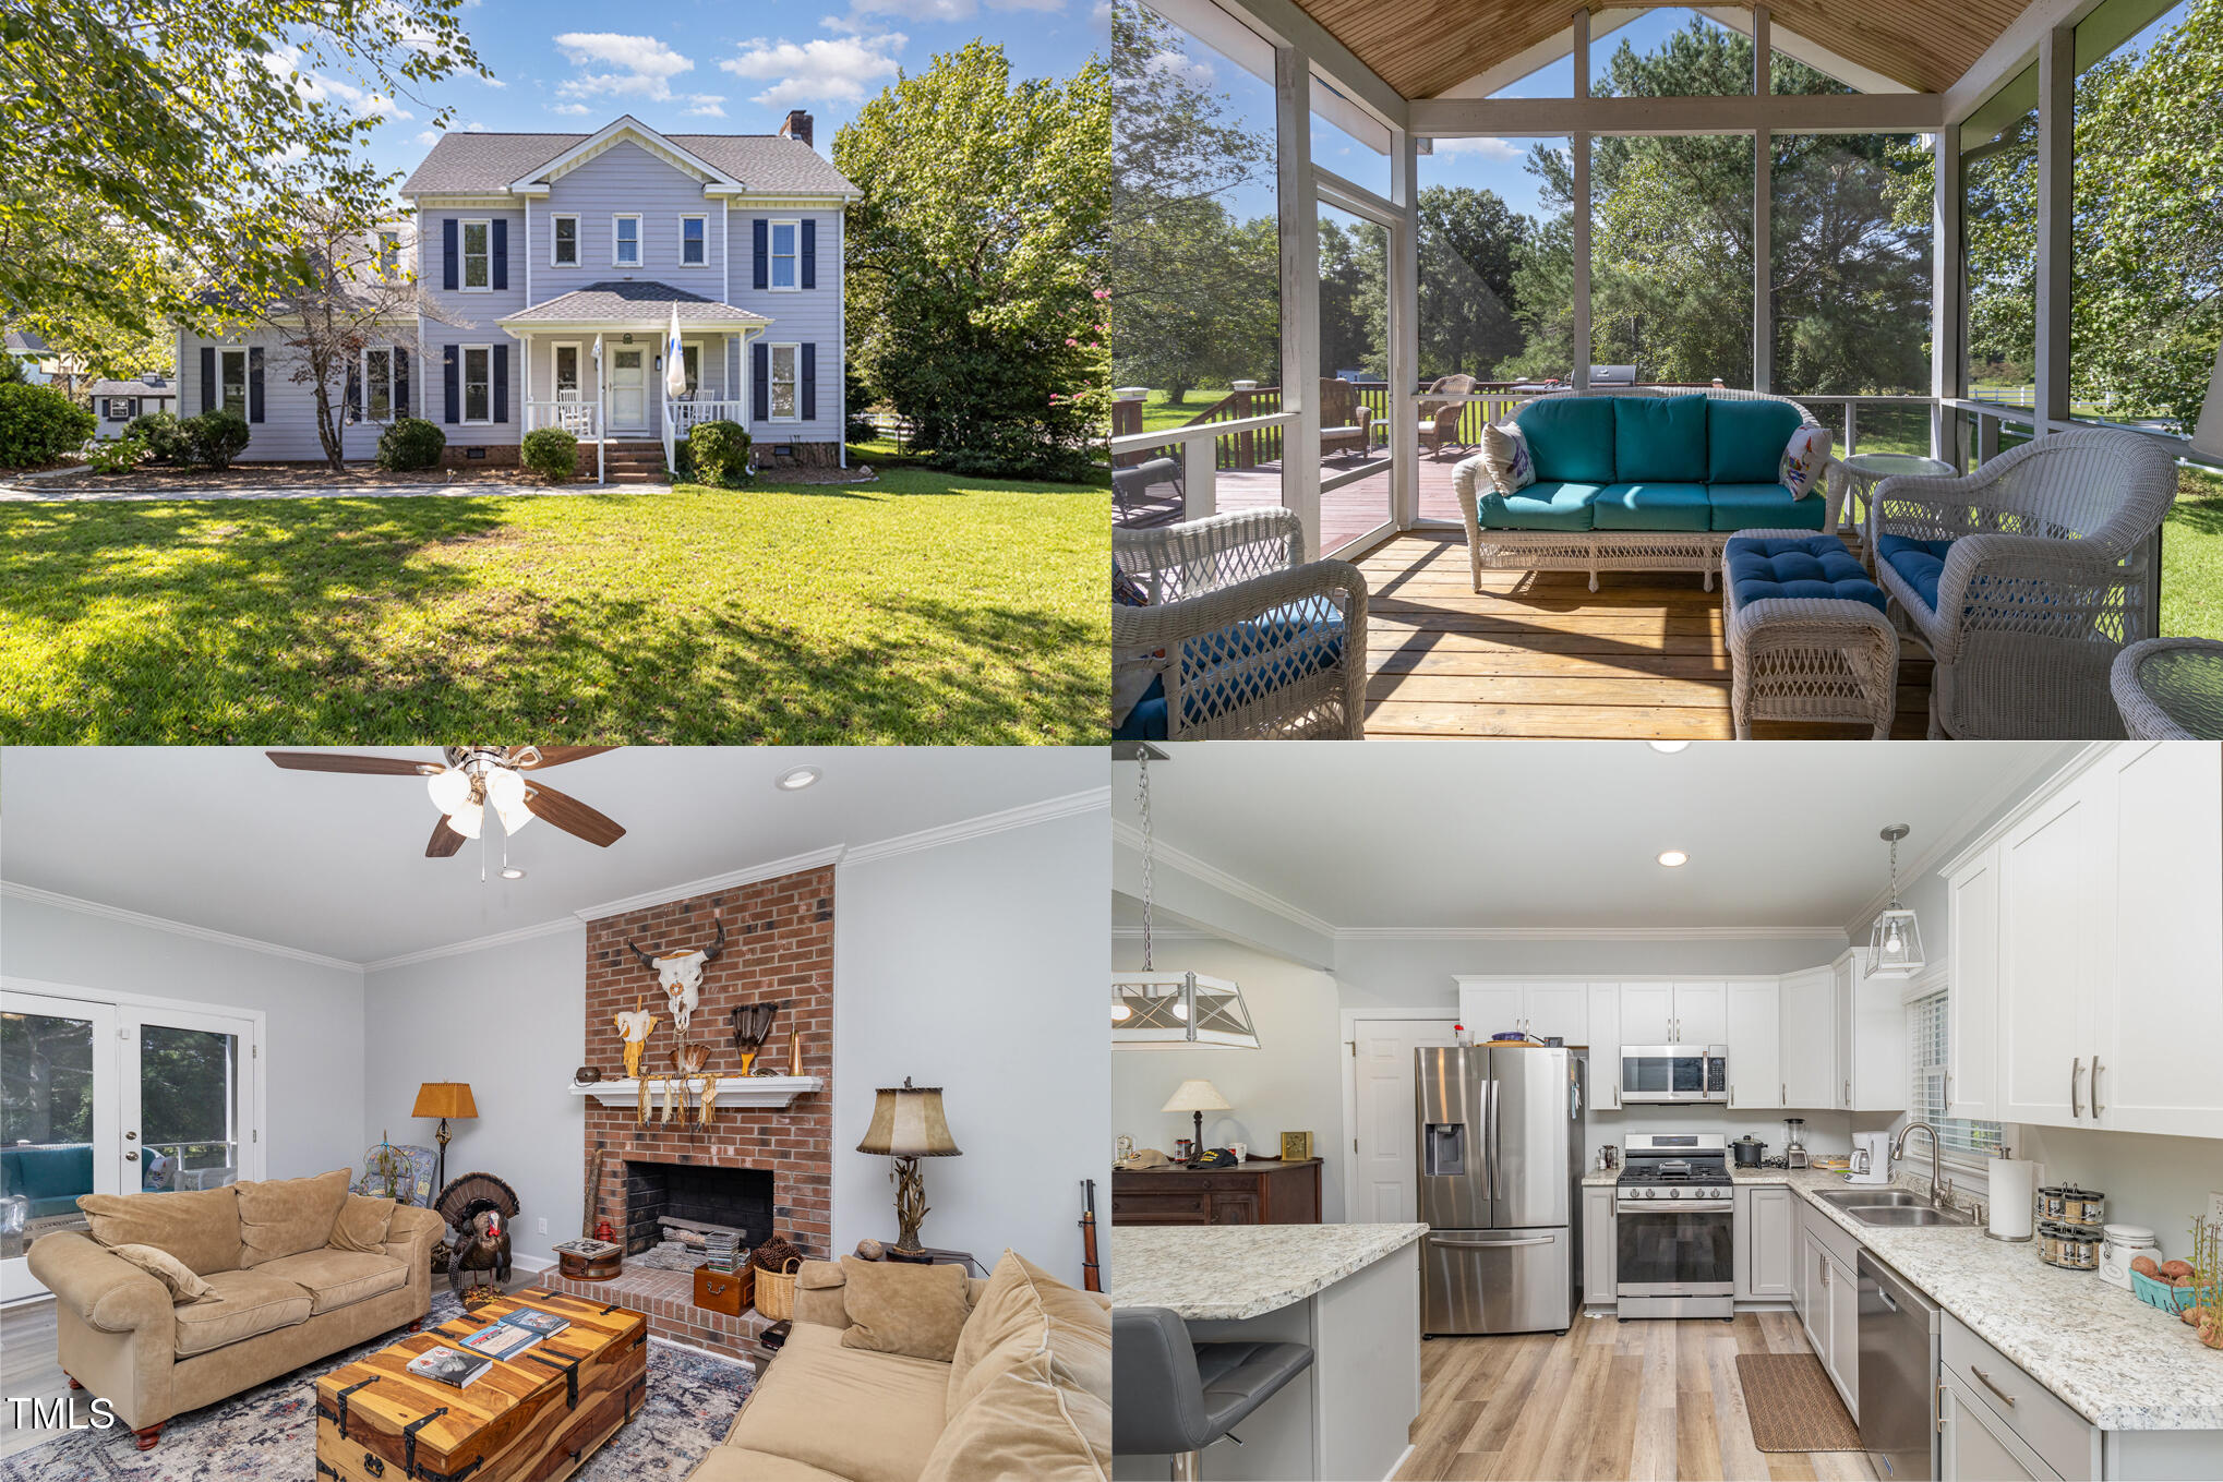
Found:
[[[714,913],[725,918],[725,953],[702,969],[700,1004],[687,1038],[709,1047],[705,1073],[740,1075],[731,1011],[740,1004],[785,1002],[771,1022],[758,1067],[787,1067],[787,1033],[803,1031],[803,1073],[827,1087],[796,1098],[785,1109],[720,1104],[709,1126],[674,1111],[662,1122],[662,1104],[649,1122],[636,1124],[631,1107],[587,1100],[582,1162],[602,1151],[602,1182],[596,1220],[609,1220],[629,1249],[654,1242],[651,1222],[638,1204],[658,1198],[662,1213],[678,1213],[671,1200],[731,1195],[729,1213],[769,1224],[769,1233],[809,1255],[831,1255],[834,1189],[834,869],[820,867],[778,880],[760,880],[709,895],[627,911],[587,922],[587,1064],[605,1078],[625,1075],[625,1047],[611,1018],[640,1000],[658,1013],[640,1058],[642,1073],[671,1069],[678,1027],[665,1007],[656,973],[627,949],[638,942],[649,953],[680,953],[709,947]],[[747,1171],[749,1178],[722,1178]],[[585,1169],[582,1169],[585,1175]],[[636,1209],[629,1211],[629,1195]],[[760,1229],[749,1218],[700,1218],[714,1224]],[[760,1235],[756,1235],[760,1240]],[[738,1318],[694,1304],[694,1275],[627,1266],[611,1282],[571,1282],[551,1269],[547,1284],[620,1302],[649,1315],[649,1331],[700,1349],[758,1358],[756,1333],[767,1322],[756,1311]]]

